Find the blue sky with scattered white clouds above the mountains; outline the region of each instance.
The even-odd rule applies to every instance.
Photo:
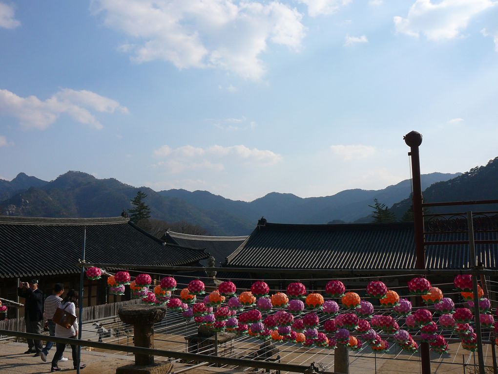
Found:
[[[496,0],[0,0],[0,178],[246,201],[498,156]]]

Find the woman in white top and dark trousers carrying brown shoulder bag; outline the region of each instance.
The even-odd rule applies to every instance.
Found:
[[[64,310],[65,312],[71,313],[73,316],[76,316],[76,307],[78,305],[78,292],[75,290],[69,290],[66,297],[61,301],[59,305],[59,309]],[[74,320],[74,323],[71,325],[69,329],[65,329],[60,325],[55,325],[55,336],[57,338],[71,338],[76,339],[78,337],[78,319]],[[65,343],[57,343],[56,344],[57,351],[55,352],[54,358],[52,359],[52,368],[50,372],[59,372],[61,368],[57,366],[57,361],[62,358],[64,350],[66,349]],[[76,370],[78,365],[78,352],[76,350],[76,345],[71,344],[71,351],[73,357],[73,367]],[[85,369],[85,364],[80,364],[80,369]]]

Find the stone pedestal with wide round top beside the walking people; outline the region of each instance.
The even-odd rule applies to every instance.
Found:
[[[133,342],[135,347],[154,348],[154,324],[161,321],[166,313],[166,307],[143,304],[126,305],[119,311],[120,319],[133,325]],[[171,370],[172,364],[154,365],[151,355],[135,354],[135,365],[118,368],[116,374],[163,374]]]

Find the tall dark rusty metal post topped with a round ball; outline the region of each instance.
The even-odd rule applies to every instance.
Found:
[[[411,131],[403,137],[406,145],[410,147],[408,156],[411,157],[411,175],[413,186],[413,237],[416,251],[417,269],[425,269],[425,246],[424,246],[424,213],[422,184],[420,177],[420,155],[418,147],[422,144],[422,134]],[[422,374],[431,373],[431,356],[428,343],[420,344],[420,361]]]

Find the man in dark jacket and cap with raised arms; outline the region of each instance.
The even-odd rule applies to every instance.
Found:
[[[43,324],[43,299],[44,295],[38,289],[38,280],[32,279],[31,284],[23,282],[19,285],[17,294],[26,299],[24,303],[24,322],[26,333],[41,334]],[[41,341],[28,339],[28,350],[25,354],[34,353],[40,356],[42,349]]]

